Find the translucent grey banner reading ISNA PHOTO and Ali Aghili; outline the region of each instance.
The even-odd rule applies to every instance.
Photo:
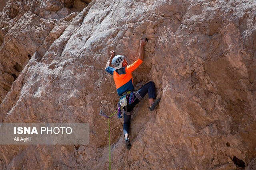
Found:
[[[89,123],[0,123],[0,145],[72,144],[89,144]]]

